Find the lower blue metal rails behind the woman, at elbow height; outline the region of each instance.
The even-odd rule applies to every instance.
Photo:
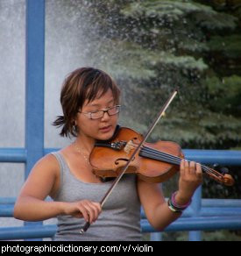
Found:
[[[12,217],[14,202],[14,197],[0,197],[0,217]],[[197,210],[196,205],[199,204],[199,210]],[[141,217],[141,228],[143,232],[159,232],[155,231],[148,223],[143,210],[141,211]],[[170,224],[164,231],[189,231],[189,240],[201,240],[200,231],[240,229],[241,200],[201,200],[200,191],[197,191],[193,203],[184,211],[178,220]],[[4,227],[0,228],[0,240],[53,238],[55,231],[56,225],[53,224]]]

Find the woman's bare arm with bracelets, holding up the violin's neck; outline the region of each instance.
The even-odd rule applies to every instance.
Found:
[[[195,193],[195,189],[201,183],[202,168],[200,164],[182,160],[179,189],[174,196],[175,203],[187,205]],[[147,183],[139,179],[138,195],[145,210],[145,216],[155,229],[161,231],[178,217],[181,217],[181,212],[174,212],[169,208],[159,184]]]

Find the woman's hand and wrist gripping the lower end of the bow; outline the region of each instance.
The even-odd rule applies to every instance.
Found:
[[[73,203],[64,203],[64,214],[73,217],[83,217],[86,222],[92,224],[100,215],[101,204],[89,200],[82,200]]]

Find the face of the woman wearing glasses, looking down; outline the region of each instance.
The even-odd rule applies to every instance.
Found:
[[[83,103],[81,113],[79,112],[76,117],[76,123],[79,127],[78,137],[100,140],[110,139],[117,126],[118,114],[110,116],[107,112],[104,112],[103,117],[90,119],[87,113],[97,110],[107,110],[116,104],[110,89],[103,96],[94,99],[90,103],[86,100]]]

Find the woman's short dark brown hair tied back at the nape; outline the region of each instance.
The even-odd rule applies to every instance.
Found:
[[[97,68],[77,68],[65,79],[60,103],[63,116],[58,116],[53,122],[55,126],[63,126],[60,136],[77,136],[78,131],[74,124],[74,118],[81,109],[85,100],[92,102],[97,96],[103,96],[110,89],[114,101],[119,103],[120,89],[110,75]]]

